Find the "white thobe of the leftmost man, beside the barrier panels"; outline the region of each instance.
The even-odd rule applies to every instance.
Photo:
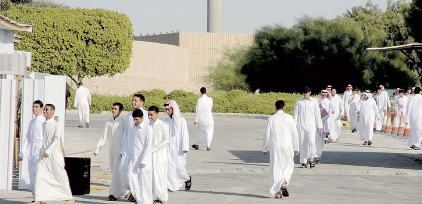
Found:
[[[35,196],[35,173],[37,171],[37,164],[40,158],[41,148],[43,147],[43,123],[45,117],[43,114],[35,116],[29,122],[28,132],[25,137],[22,137],[19,156],[23,158],[23,162],[27,163],[27,169],[20,169],[21,174],[29,175],[29,190],[31,190],[32,197]]]

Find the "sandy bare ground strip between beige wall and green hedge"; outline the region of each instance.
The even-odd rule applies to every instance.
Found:
[[[68,77],[68,83],[72,88],[76,88],[76,85]],[[131,95],[141,90],[152,90],[161,89],[167,93],[173,90],[184,90],[188,92],[198,92],[201,87],[206,87],[207,90],[211,91],[210,85],[206,83],[195,83],[186,81],[166,81],[151,78],[136,78],[136,77],[125,77],[121,74],[116,74],[113,77],[110,76],[98,76],[92,78],[84,78],[83,85],[89,89],[92,93],[100,95]]]

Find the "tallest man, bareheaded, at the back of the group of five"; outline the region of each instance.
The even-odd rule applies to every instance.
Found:
[[[132,108],[135,110],[140,109],[144,116],[148,115],[148,111],[143,109],[143,104],[145,103],[145,97],[142,94],[134,94],[134,97],[132,98]],[[128,144],[128,132],[132,130],[132,128],[135,126],[134,119],[132,117],[132,112],[128,113],[125,120],[125,130],[123,131],[122,136],[122,149],[120,150],[120,156],[122,158],[120,162],[120,176],[122,177],[123,186],[130,190],[129,183],[128,183],[128,165],[129,161],[126,155],[129,154],[129,144]],[[147,117],[144,117],[142,120],[142,123],[149,123],[149,119]],[[130,195],[128,200],[134,201],[133,195]]]

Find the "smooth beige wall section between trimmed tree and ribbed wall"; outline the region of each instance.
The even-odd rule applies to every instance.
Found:
[[[128,77],[189,81],[189,50],[160,43],[134,41]]]

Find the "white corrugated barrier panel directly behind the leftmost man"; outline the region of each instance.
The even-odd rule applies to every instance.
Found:
[[[41,79],[24,79],[22,85],[22,102],[20,116],[20,137],[26,136],[29,128],[29,122],[34,119],[32,114],[32,103],[36,100],[44,99],[44,80]],[[44,103],[44,101],[43,101]],[[22,148],[22,142],[20,143]],[[26,151],[28,152],[28,151]],[[29,189],[29,171],[28,159],[23,159],[19,165],[19,189]]]

